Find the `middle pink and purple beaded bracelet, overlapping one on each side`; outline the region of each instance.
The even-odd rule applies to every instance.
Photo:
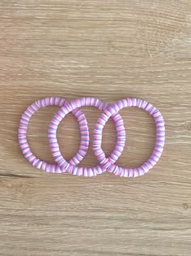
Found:
[[[74,109],[79,108],[81,106],[95,106],[100,111],[107,110],[109,105],[100,101],[97,98],[79,98],[70,103],[66,103],[65,106],[57,111],[57,114],[54,115],[52,121],[49,125],[49,145],[50,150],[53,154],[54,160],[57,162],[62,171],[66,171],[73,175],[79,176],[96,176],[97,174],[103,173],[106,169],[102,168],[102,163],[96,167],[74,167],[66,159],[62,156],[58,142],[57,142],[57,127],[61,123],[62,119],[70,113],[70,111],[74,111]],[[116,124],[117,128],[117,144],[112,151],[112,154],[108,157],[114,163],[121,156],[121,153],[125,146],[125,127],[123,124],[123,119],[121,115],[115,113],[111,115],[113,121]],[[100,119],[100,124],[103,120]],[[103,157],[105,158],[105,154],[103,152]],[[98,156],[99,158],[99,156]]]

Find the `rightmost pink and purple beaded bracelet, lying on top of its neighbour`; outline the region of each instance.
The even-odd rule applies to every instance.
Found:
[[[142,176],[147,171],[149,171],[152,167],[154,167],[155,163],[159,161],[161,154],[163,153],[163,145],[165,141],[165,127],[163,116],[150,103],[139,99],[139,98],[125,98],[121,101],[117,101],[115,104],[108,106],[108,108],[102,113],[97,120],[96,128],[94,129],[94,140],[93,140],[93,151],[96,154],[97,159],[99,160],[100,154],[103,154],[104,151],[101,149],[101,140],[102,140],[102,131],[104,125],[110,118],[110,116],[115,115],[123,109],[124,107],[137,106],[142,108],[142,110],[147,111],[150,115],[152,115],[155,119],[156,125],[156,141],[155,141],[155,149],[151,154],[151,157],[146,160],[142,166],[137,168],[123,168],[118,167],[115,163],[109,163],[106,159],[104,163],[104,169],[106,171],[112,172],[117,176],[125,176],[125,177],[135,177]]]

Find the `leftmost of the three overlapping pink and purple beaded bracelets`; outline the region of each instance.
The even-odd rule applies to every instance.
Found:
[[[32,154],[32,150],[28,145],[28,138],[27,138],[29,121],[32,115],[42,107],[45,107],[45,106],[62,107],[62,106],[66,106],[66,103],[67,102],[64,98],[59,98],[59,97],[41,98],[36,102],[33,102],[31,106],[28,106],[27,110],[24,111],[20,119],[19,135],[18,135],[20,149],[23,152],[23,156],[27,158],[28,162],[32,163],[32,166],[38,169],[42,169],[47,172],[57,172],[57,173],[61,173],[64,171],[64,170],[62,171],[57,164],[46,163],[44,160],[40,160],[39,158],[36,158],[34,154]],[[69,161],[71,166],[76,166],[83,160],[84,156],[87,154],[87,149],[89,146],[89,131],[87,127],[87,119],[83,114],[83,111],[80,111],[79,109],[75,109],[74,111],[72,111],[72,114],[76,116],[78,119],[80,134],[81,134],[79,151]],[[57,115],[55,115],[53,119],[57,119],[57,118],[59,118],[59,116],[57,117]]]

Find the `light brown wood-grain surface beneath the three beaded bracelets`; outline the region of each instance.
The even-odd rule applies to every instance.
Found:
[[[191,2],[1,1],[0,58],[0,255],[189,256]],[[37,98],[52,95],[151,102],[166,121],[161,161],[136,179],[33,168],[19,150],[19,118]],[[83,110],[92,136],[99,111]],[[56,111],[39,111],[28,132],[34,153],[50,162],[47,131]],[[121,115],[128,141],[117,163],[136,167],[151,154],[155,125],[140,110]],[[79,146],[72,115],[58,136],[69,159]],[[115,141],[109,120],[107,155]],[[91,148],[82,164],[96,164]]]

